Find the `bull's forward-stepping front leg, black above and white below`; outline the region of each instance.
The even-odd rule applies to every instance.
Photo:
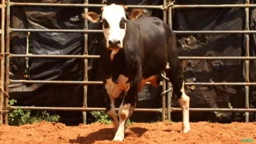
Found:
[[[133,113],[137,103],[137,88],[138,82],[133,81],[130,87],[126,90],[125,97],[118,109],[119,126],[115,133],[113,141],[122,141],[124,138],[125,123],[128,120],[129,116]]]

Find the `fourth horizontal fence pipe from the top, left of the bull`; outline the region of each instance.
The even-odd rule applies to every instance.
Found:
[[[10,83],[43,83],[43,84],[103,84],[103,81],[68,81],[68,80],[13,80]]]

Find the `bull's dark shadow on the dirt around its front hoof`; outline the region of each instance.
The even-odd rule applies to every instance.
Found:
[[[130,128],[130,131],[128,132],[128,134],[125,134],[125,136],[140,137],[145,131],[147,131],[146,128],[132,127]],[[77,136],[76,139],[69,139],[69,142],[87,144],[87,143],[94,143],[95,141],[100,141],[100,140],[111,141],[114,137],[115,132],[116,130],[114,128],[102,128],[102,129],[99,129],[98,131],[88,134],[87,136]]]

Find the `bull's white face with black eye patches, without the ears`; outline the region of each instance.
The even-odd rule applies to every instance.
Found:
[[[107,48],[117,50],[123,47],[126,20],[125,11],[121,5],[111,4],[103,7],[101,21]]]

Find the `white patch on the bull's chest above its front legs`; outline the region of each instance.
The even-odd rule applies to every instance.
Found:
[[[109,96],[116,98],[120,95],[122,91],[127,92],[130,88],[130,83],[127,82],[128,77],[120,74],[117,78],[117,83],[113,82],[111,78],[106,79],[106,92]]]

